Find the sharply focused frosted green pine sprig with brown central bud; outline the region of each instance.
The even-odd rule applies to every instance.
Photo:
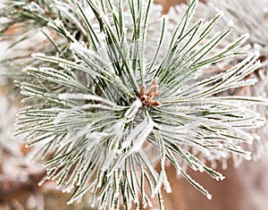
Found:
[[[249,159],[240,146],[254,139],[249,129],[265,122],[250,106],[267,105],[267,99],[217,97],[255,83],[247,75],[258,68],[258,54],[245,52],[247,36],[219,50],[231,30],[212,34],[220,15],[191,24],[197,0],[188,2],[171,37],[164,18],[155,21],[162,22],[158,33],[150,34],[151,1],[129,0],[126,9],[120,0],[67,3],[76,8],[75,29],[61,15],[48,25],[65,38],[68,56],[34,54],[40,64],[23,69],[34,80],[21,81],[26,105],[16,135],[26,133],[29,146],[40,145],[43,155],[52,155],[46,178],[56,179],[63,191],[74,190],[70,203],[90,190],[92,205],[97,199],[100,210],[119,209],[121,203],[139,209],[139,195],[144,206],[151,205],[151,196],[158,197],[163,209],[161,189],[172,190],[165,172],[170,162],[211,198],[183,166],[224,179],[204,159],[231,154]],[[89,8],[94,18],[86,13]],[[76,29],[85,29],[86,37],[78,37]],[[233,68],[200,76],[210,65],[237,55],[244,60]]]

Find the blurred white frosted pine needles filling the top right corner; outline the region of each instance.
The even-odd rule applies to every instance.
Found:
[[[235,35],[239,33],[250,33],[249,43],[256,49],[261,51],[261,54],[267,52],[268,38],[265,34],[268,31],[267,24],[267,4],[268,1],[229,1],[224,0],[219,4],[217,1],[209,0],[211,8],[221,10],[225,13],[225,22],[231,21],[235,26]],[[238,8],[237,10],[236,8]],[[266,51],[266,52],[265,52]]]

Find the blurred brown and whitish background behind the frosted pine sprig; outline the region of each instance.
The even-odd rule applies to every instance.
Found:
[[[162,4],[163,13],[168,13],[171,6],[183,4],[184,1],[155,0],[155,3]],[[9,32],[13,33],[13,29]],[[28,47],[29,43],[23,42],[23,45]],[[7,47],[8,43],[0,39],[0,60],[9,57]],[[19,55],[20,49],[13,49],[12,52]],[[4,65],[1,65],[2,69]],[[33,161],[32,151],[20,139],[12,139],[11,133],[7,132],[13,130],[15,114],[21,107],[20,94],[13,80],[0,78],[0,87],[0,210],[90,210],[90,195],[84,197],[80,204],[67,206],[71,195],[56,189],[53,181],[38,186],[45,175],[42,164]],[[217,170],[226,177],[224,181],[214,181],[206,174],[189,172],[210,191],[212,200],[207,200],[188,181],[174,175],[176,172],[172,167],[168,167],[172,194],[164,194],[166,210],[267,210],[267,156],[256,162],[244,161],[238,168],[233,166],[231,160],[227,170],[222,169],[222,164],[218,165]]]

